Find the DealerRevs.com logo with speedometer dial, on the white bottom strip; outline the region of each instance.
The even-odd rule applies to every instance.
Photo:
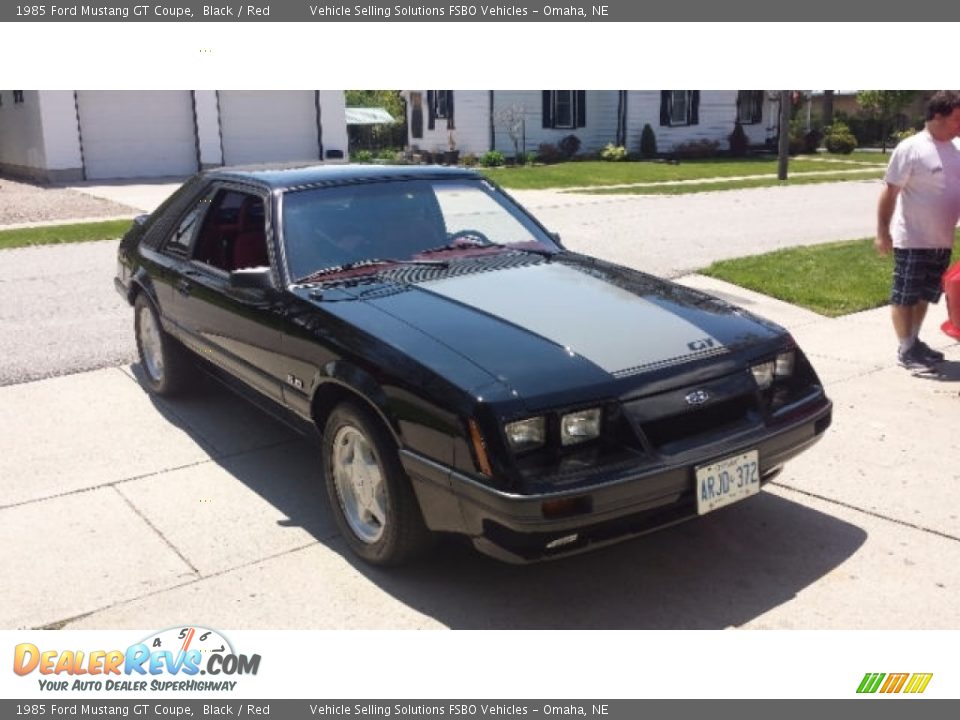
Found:
[[[47,691],[230,691],[238,682],[232,678],[259,669],[260,655],[238,654],[216,630],[195,626],[152,633],[125,650],[50,650],[20,643],[13,652],[14,673],[37,673],[40,689]]]

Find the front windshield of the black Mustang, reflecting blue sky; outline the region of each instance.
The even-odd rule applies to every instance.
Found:
[[[400,180],[296,190],[283,197],[290,276],[368,260],[406,261],[508,246],[557,251],[482,179]]]

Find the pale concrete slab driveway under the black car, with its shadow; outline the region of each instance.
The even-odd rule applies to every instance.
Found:
[[[371,569],[347,552],[316,448],[216,387],[147,395],[136,366],[0,388],[0,627],[960,627],[960,346],[894,363],[886,308],[825,319],[682,282],[788,327],[834,426],[758,497],[532,567],[457,544]]]

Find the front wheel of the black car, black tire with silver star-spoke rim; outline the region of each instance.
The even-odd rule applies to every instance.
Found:
[[[423,554],[430,531],[396,443],[373,413],[353,402],[333,410],[323,432],[323,471],[337,526],[355,554],[373,565]]]

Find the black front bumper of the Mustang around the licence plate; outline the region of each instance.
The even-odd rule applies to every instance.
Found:
[[[829,427],[832,404],[760,438],[621,470],[586,488],[537,495],[498,491],[473,478],[404,450],[429,528],[467,535],[478,550],[500,560],[528,563],[570,555],[636,537],[695,517],[695,466],[757,450],[763,481],[816,443]],[[544,502],[571,500],[572,513],[546,517]]]

